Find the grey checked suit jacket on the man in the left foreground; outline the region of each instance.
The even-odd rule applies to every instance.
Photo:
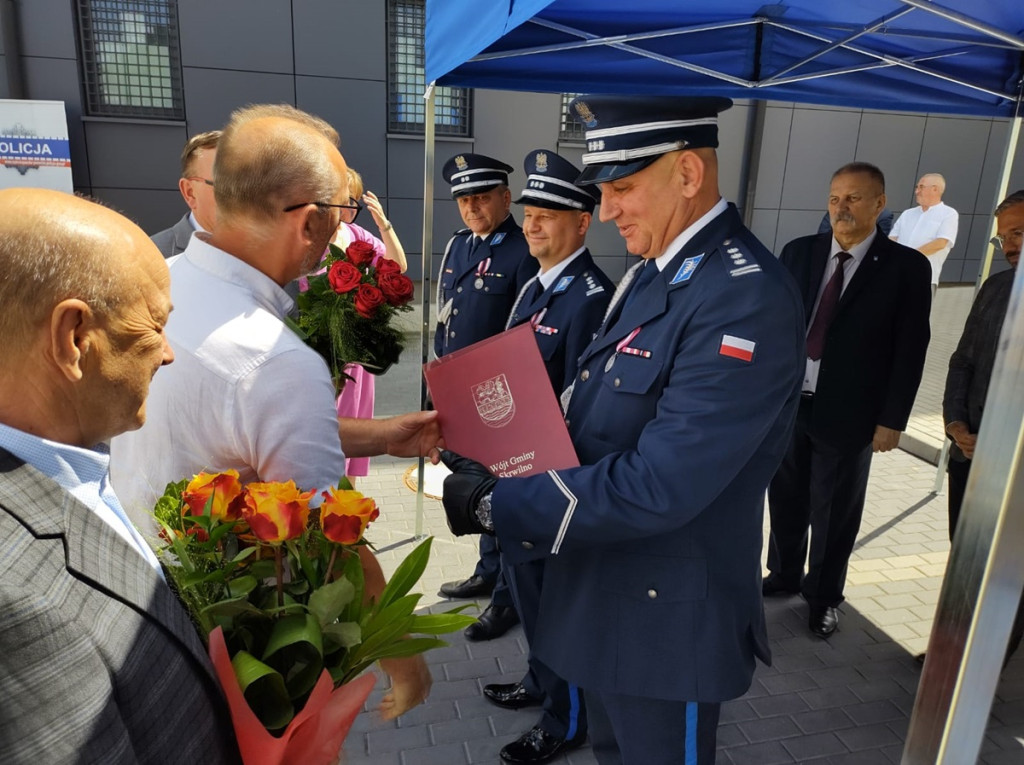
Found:
[[[170,588],[4,450],[0,614],[0,762],[238,762],[227,705]]]

